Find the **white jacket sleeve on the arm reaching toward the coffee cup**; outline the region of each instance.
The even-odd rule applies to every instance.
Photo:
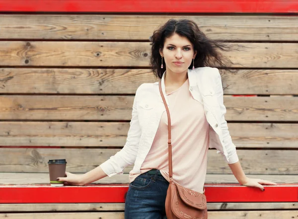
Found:
[[[136,160],[142,133],[137,111],[137,103],[139,101],[138,93],[140,87],[136,91],[133,104],[132,119],[130,121],[130,128],[124,147],[100,165],[102,170],[109,177],[115,174],[123,174],[123,169],[126,166],[133,164]]]

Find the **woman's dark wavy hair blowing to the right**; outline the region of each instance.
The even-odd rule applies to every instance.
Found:
[[[166,68],[161,69],[161,56],[159,49],[163,49],[165,38],[171,37],[173,34],[186,37],[193,45],[197,55],[194,60],[195,68],[198,67],[228,67],[228,64],[233,64],[229,59],[223,56],[220,52],[230,51],[231,44],[212,40],[199,29],[198,25],[188,19],[169,19],[165,24],[160,26],[150,36],[151,56],[150,67],[154,75],[159,78],[162,77]],[[165,62],[163,60],[163,66]],[[192,68],[192,65],[189,69]]]

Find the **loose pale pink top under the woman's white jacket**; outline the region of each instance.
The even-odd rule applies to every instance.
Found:
[[[188,79],[182,86],[167,94],[171,116],[173,178],[181,186],[203,193],[207,172],[209,123],[204,106],[192,98]],[[141,173],[159,169],[168,181],[167,114],[163,112],[152,146]],[[130,171],[133,182],[140,173]]]

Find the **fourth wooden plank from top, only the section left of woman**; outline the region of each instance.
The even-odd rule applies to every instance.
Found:
[[[134,96],[0,96],[0,119],[130,120]]]

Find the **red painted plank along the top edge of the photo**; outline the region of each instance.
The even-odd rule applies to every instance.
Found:
[[[298,13],[298,0],[0,0],[0,11]]]

